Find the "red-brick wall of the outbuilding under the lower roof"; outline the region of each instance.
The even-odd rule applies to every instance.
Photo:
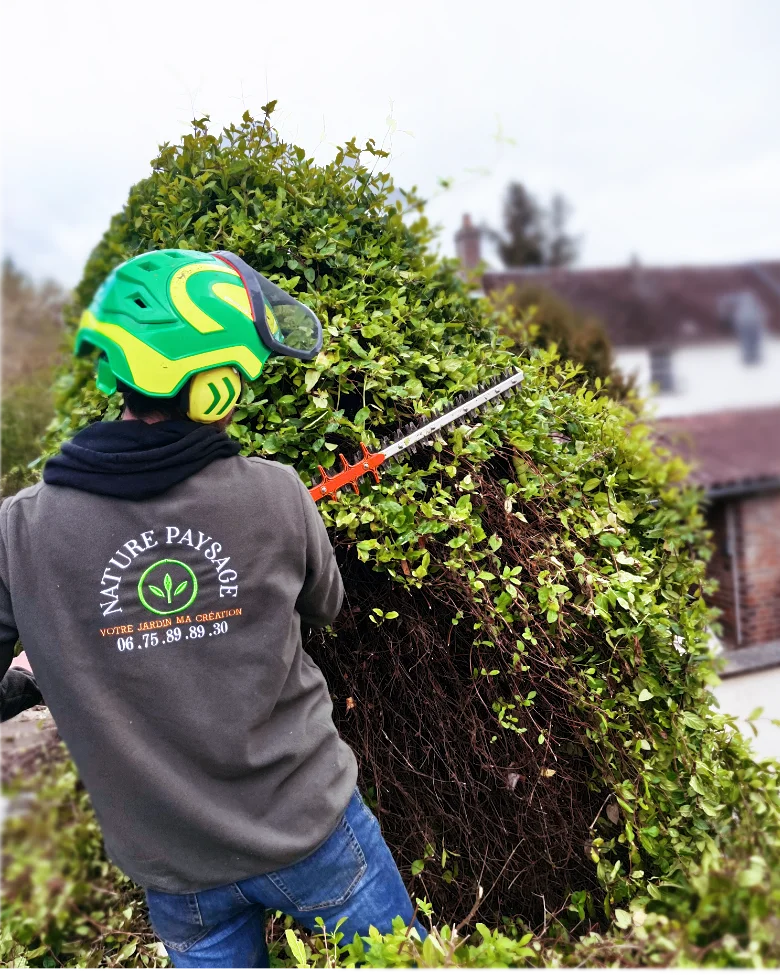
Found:
[[[737,537],[733,554],[728,546],[729,506]],[[722,610],[726,643],[737,644],[734,558],[739,568],[740,646],[780,640],[780,492],[717,503],[710,509],[708,521],[715,545],[710,572],[720,584],[713,602]]]

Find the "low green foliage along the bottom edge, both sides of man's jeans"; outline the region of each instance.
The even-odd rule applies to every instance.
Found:
[[[37,798],[6,824],[0,844],[0,966],[8,969],[158,969],[168,965],[149,928],[143,897],[104,858],[89,803],[70,763],[60,761],[27,790]],[[572,935],[548,918],[538,934],[516,925],[447,926],[430,906],[433,937],[421,947],[399,926],[344,946],[336,933],[304,933],[269,920],[278,969],[502,972],[780,971],[780,872],[776,852],[706,853],[687,883],[667,890],[673,911],[637,900],[603,933]],[[566,914],[577,914],[570,906]]]

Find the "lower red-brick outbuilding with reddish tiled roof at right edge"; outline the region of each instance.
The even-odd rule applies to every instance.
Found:
[[[726,659],[716,697],[780,758],[780,407],[670,417],[657,431],[705,492]]]

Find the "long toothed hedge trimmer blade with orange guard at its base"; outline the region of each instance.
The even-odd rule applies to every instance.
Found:
[[[523,374],[519,370],[508,369],[504,373],[503,379],[499,380],[498,383],[490,386],[483,384],[477,388],[476,392],[464,393],[456,397],[455,406],[444,413],[422,420],[417,424],[407,424],[403,430],[399,430],[398,438],[383,446],[380,451],[369,451],[366,445],[361,443],[360,449],[363,456],[353,464],[350,464],[344,455],[340,454],[341,471],[329,474],[325,468],[320,466],[322,481],[310,488],[309,494],[315,502],[318,502],[323,498],[335,497],[336,492],[346,485],[352,485],[355,492],[359,494],[358,478],[362,478],[366,474],[372,474],[374,481],[378,484],[380,477],[377,469],[385,461],[399,457],[407,451],[414,454],[417,445],[430,441],[437,431],[454,426],[457,421],[462,420],[468,414],[483,411],[491,400],[511,395],[513,388],[519,386],[522,381]]]

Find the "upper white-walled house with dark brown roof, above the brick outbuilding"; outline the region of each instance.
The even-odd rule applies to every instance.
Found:
[[[483,276],[493,294],[531,283],[601,320],[658,417],[780,404],[780,262]]]

